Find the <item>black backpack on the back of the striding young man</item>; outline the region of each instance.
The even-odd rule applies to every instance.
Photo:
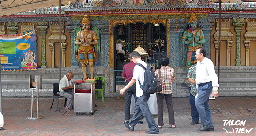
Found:
[[[155,73],[153,71],[153,68],[151,66],[148,66],[145,68],[142,64],[137,63],[135,65],[139,65],[145,69],[145,74],[144,74],[144,82],[143,85],[140,83],[140,88],[148,93],[148,94],[154,94],[157,92],[157,76],[155,76]]]

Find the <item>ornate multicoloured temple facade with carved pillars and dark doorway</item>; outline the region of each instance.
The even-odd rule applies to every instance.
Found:
[[[189,28],[192,13],[197,18],[197,28],[204,34],[203,46],[207,49],[207,58],[216,66],[216,72],[220,63],[220,96],[253,96],[256,91],[256,59],[253,59],[256,51],[256,2],[221,3],[221,20],[218,19],[218,5],[212,0],[69,2],[61,7],[61,30],[59,7],[1,16],[0,34],[36,29],[38,63],[38,70],[33,71],[2,70],[3,96],[31,96],[29,75],[43,75],[39,95],[52,96],[52,84],[59,82],[60,54],[61,77],[73,72],[74,80],[82,79],[74,47],[75,30],[81,27],[85,14],[89,16],[91,27],[98,30],[100,48],[95,50],[97,65],[94,65],[94,77],[105,77],[105,97],[113,97],[118,78],[114,73],[109,74],[109,70],[123,69],[123,65],[128,63],[128,54],[139,44],[148,53],[143,59],[155,68],[159,55],[170,58],[169,66],[176,74],[173,96],[189,96],[186,66],[182,64],[185,55],[182,36]],[[218,44],[219,37],[221,45]],[[90,74],[89,69],[86,70]]]

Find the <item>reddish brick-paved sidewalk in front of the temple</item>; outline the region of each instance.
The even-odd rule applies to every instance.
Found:
[[[75,116],[74,110],[71,114],[64,114],[64,99],[60,101],[60,112],[57,111],[56,100],[54,100],[53,109],[50,109],[52,98],[39,98],[39,120],[28,120],[30,117],[31,99],[30,98],[5,98],[3,97],[3,116],[4,128],[0,135],[148,135],[145,133],[148,129],[146,120],[143,118],[142,125],[136,125],[134,132],[129,132],[124,126],[124,97],[105,98],[102,102],[99,98],[96,100],[97,112],[92,116],[89,114]],[[197,132],[200,124],[190,125],[190,106],[189,98],[173,98],[175,125],[176,128],[170,128],[168,124],[167,107],[164,105],[164,123],[160,129],[159,136],[167,135],[235,135],[235,128],[253,128],[250,133],[239,135],[255,136],[255,97],[218,97],[217,100],[210,100],[212,120],[215,131]],[[34,109],[36,105],[34,105]],[[36,111],[34,112],[36,113]],[[63,115],[64,114],[64,115]],[[34,115],[36,116],[36,115]],[[157,123],[157,116],[154,116]],[[244,126],[223,126],[223,120],[246,120]],[[223,128],[233,128],[234,134],[226,134]],[[155,134],[156,135],[156,134]],[[236,134],[238,135],[238,134]]]

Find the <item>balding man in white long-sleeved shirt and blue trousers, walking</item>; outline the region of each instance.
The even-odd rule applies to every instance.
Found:
[[[209,106],[209,96],[212,90],[215,97],[219,96],[218,77],[211,59],[206,57],[206,49],[204,47],[199,47],[196,50],[195,57],[197,59],[196,87],[198,90],[195,106],[201,118],[201,126],[197,131],[214,131]]]

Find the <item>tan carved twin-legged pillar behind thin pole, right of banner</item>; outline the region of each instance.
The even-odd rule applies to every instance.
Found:
[[[65,67],[65,50],[66,45],[65,40],[67,37],[64,35],[64,22],[61,24],[61,30],[59,26],[59,22],[51,22],[50,23],[50,33],[51,35],[48,37],[48,40],[50,40],[49,46],[51,50],[51,60],[52,60],[52,67],[55,66],[55,58],[54,58],[54,43],[60,42],[60,32],[61,31],[61,43],[59,46],[61,46],[61,67]]]

